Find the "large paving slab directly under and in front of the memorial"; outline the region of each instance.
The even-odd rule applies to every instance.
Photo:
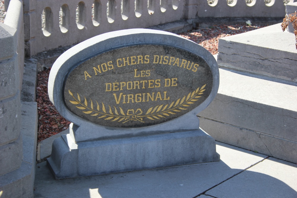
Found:
[[[42,197],[196,197],[267,156],[217,142],[219,162],[54,180],[36,166],[35,198]]]

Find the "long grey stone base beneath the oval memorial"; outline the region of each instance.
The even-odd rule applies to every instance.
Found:
[[[219,161],[214,139],[198,129],[89,142],[69,134],[53,142],[47,159],[56,179]]]

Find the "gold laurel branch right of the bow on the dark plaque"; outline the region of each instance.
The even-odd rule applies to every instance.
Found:
[[[175,112],[187,110],[187,107],[198,101],[198,98],[201,97],[200,95],[202,95],[203,91],[205,91],[205,86],[206,84],[203,85],[201,88],[198,87],[195,91],[190,92],[187,96],[179,98],[177,101],[171,102],[169,107],[168,104],[166,104],[165,106],[161,104],[155,107],[150,107],[145,115],[139,115],[138,117],[145,117],[150,120],[160,120],[161,118],[165,118],[164,116],[175,115]]]

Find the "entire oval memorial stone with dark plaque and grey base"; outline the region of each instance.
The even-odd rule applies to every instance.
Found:
[[[196,116],[218,87],[211,53],[176,34],[129,29],[88,39],[50,72],[50,100],[72,123],[48,166],[62,179],[218,161]]]

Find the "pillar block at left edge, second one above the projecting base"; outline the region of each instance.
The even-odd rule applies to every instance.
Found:
[[[15,141],[20,135],[20,94],[0,100],[0,145]]]

